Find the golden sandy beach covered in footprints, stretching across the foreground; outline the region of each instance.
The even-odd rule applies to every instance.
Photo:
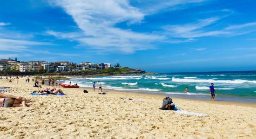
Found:
[[[12,90],[5,94],[34,101],[30,107],[0,108],[1,138],[256,139],[256,104],[173,98],[182,110],[208,114],[197,117],[160,110],[163,95],[104,90],[102,86],[107,95],[91,88],[85,94],[84,88],[61,87],[66,96],[32,96],[33,84],[25,78],[18,84],[0,80],[0,87]]]

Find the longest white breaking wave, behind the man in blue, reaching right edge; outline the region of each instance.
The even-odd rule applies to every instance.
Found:
[[[215,83],[256,83],[252,80],[213,80],[213,79],[180,79],[172,77],[172,82],[215,82]]]

